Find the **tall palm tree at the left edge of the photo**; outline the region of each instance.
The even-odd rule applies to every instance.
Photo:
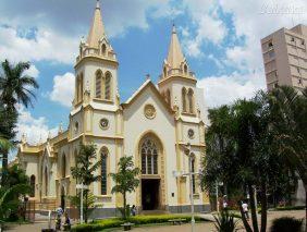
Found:
[[[16,103],[22,103],[26,108],[32,103],[32,99],[35,98],[34,88],[38,88],[36,80],[29,75],[24,74],[29,69],[29,62],[19,62],[16,65],[12,65],[8,60],[1,63],[2,74],[0,74],[0,102],[4,108],[7,115],[16,115]],[[15,117],[16,118],[16,117]],[[8,119],[8,118],[7,118]],[[16,119],[9,120],[10,125],[2,125],[7,127],[7,133],[3,134],[5,139],[13,139],[15,134],[13,133]],[[2,152],[2,168],[8,168],[8,154],[9,149],[1,150]]]

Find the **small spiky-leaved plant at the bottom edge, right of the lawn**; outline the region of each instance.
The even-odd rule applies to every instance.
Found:
[[[214,227],[219,232],[233,232],[237,231],[234,216],[229,212],[229,210],[223,210],[219,213],[219,216],[213,216],[216,223]]]

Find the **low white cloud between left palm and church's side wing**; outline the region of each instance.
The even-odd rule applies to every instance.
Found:
[[[34,118],[29,111],[23,106],[19,106],[19,123],[16,139],[21,141],[22,135],[25,134],[29,144],[37,144],[39,141],[45,142],[50,133],[53,137],[58,133],[58,127],[50,129],[47,125],[47,120],[44,117]]]

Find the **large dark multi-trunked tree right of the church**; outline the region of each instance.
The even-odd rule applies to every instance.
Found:
[[[212,190],[223,182],[228,191],[241,199],[247,191],[250,202],[253,230],[259,231],[255,190],[260,191],[261,232],[267,228],[267,186],[280,185],[279,176],[288,175],[284,160],[277,156],[275,131],[268,94],[259,91],[251,100],[237,100],[234,105],[209,110],[207,156],[204,159],[202,186]],[[241,207],[246,231],[251,232]]]

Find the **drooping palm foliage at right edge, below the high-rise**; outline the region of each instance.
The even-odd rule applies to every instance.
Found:
[[[300,94],[288,86],[275,88],[270,94],[270,106],[279,155],[298,173],[307,199],[307,88]],[[307,220],[307,209],[305,218]]]

